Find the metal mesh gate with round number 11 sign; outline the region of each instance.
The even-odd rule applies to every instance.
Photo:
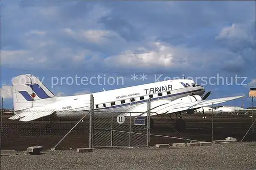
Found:
[[[122,112],[96,112],[93,118],[93,147],[147,147],[149,129],[146,116]],[[127,113],[126,113],[127,114]]]

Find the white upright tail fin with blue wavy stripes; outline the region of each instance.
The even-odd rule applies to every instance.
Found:
[[[14,110],[24,110],[55,102],[55,95],[35,76],[20,75],[12,79]]]

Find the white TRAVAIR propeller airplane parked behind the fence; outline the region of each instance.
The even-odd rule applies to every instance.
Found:
[[[50,116],[53,120],[79,120],[84,111],[90,110],[90,95],[55,96],[37,77],[27,74],[12,79],[14,116],[9,119],[19,119],[29,122],[40,117]],[[203,106],[224,103],[244,97],[207,100],[210,91],[205,95],[205,89],[195,84],[193,80],[176,79],[148,83],[132,87],[104,90],[92,93],[94,111],[100,117],[108,112],[122,112],[124,116],[147,116],[147,100],[151,99],[151,116],[186,112],[193,114],[194,110]],[[98,112],[100,111],[100,112]],[[171,116],[169,116],[171,117]],[[180,116],[175,121],[176,127],[185,129],[185,121]],[[151,127],[154,121],[151,119]]]

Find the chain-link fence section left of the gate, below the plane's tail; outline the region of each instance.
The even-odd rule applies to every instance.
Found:
[[[74,127],[77,120],[51,121],[51,117],[42,117],[30,122],[10,120],[13,114],[3,113],[1,122],[1,149],[26,150],[32,145],[41,145],[51,149]],[[88,118],[88,116],[87,116]],[[58,149],[88,147],[89,121],[80,122],[76,128],[63,140]]]

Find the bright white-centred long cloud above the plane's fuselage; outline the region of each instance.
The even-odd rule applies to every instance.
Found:
[[[185,45],[170,45],[165,42],[148,42],[135,50],[124,51],[119,55],[107,57],[104,64],[111,68],[151,69],[151,70],[204,70],[221,68],[230,71],[243,68],[241,56],[226,49],[202,49]]]

